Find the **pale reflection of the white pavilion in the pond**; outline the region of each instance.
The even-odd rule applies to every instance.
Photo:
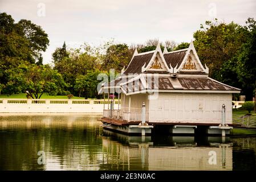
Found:
[[[104,130],[103,166],[119,170],[232,170],[232,145],[208,137],[166,137],[164,143],[151,137],[131,137]],[[227,138],[226,138],[227,140]],[[107,166],[105,166],[107,167]]]

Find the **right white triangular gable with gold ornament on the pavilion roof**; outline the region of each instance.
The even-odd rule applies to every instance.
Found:
[[[181,69],[192,70],[192,71],[198,69],[198,68],[196,68],[196,64],[194,63],[194,61],[192,61],[190,51],[192,51],[194,53],[194,56],[196,57],[196,61],[197,61],[198,65],[200,66],[202,72],[205,72],[208,74],[209,68],[206,66],[206,64],[205,64],[205,68],[202,65],[202,63],[197,55],[196,49],[194,48],[193,40],[191,40],[191,42],[189,44],[189,47],[186,51],[186,55],[185,55],[184,59],[182,60],[180,67],[177,68],[177,65],[176,65],[176,67],[172,68],[172,66],[170,65],[170,69],[171,69],[172,73],[177,73]]]

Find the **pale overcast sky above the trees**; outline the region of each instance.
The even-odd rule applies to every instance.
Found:
[[[205,20],[245,24],[248,17],[256,18],[256,1],[0,0],[0,11],[16,22],[29,19],[46,31],[50,46],[43,57],[50,63],[51,53],[64,41],[68,47],[83,42],[97,46],[111,38],[128,46],[151,38],[190,42]]]

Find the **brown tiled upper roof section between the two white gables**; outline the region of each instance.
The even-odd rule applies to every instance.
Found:
[[[164,59],[170,68],[170,65],[172,67],[176,67],[178,64],[178,67],[180,67],[180,64],[182,63],[182,60],[184,59],[186,55],[186,50],[185,51],[179,51],[179,52],[173,52],[173,53],[165,53],[164,54]]]

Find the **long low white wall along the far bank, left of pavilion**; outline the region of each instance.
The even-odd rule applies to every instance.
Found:
[[[103,113],[103,107],[104,100],[0,99],[0,113]]]

